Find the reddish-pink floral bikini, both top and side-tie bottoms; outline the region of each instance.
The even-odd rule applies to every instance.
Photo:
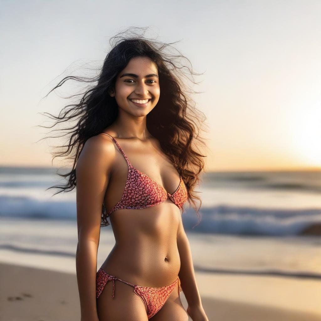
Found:
[[[142,209],[155,206],[164,203],[168,198],[177,205],[178,208],[182,208],[183,204],[187,201],[188,194],[181,176],[177,189],[172,194],[168,193],[165,188],[158,184],[154,179],[132,166],[114,137],[106,133],[101,134],[109,136],[116,143],[128,165],[128,176],[122,198],[110,209],[107,217],[109,217],[111,213],[121,209]],[[121,280],[114,275],[108,274],[100,267],[96,274],[97,299],[104,290],[107,282],[110,280],[113,282],[113,299],[115,297],[115,280],[124,282],[134,288],[134,293],[142,299],[145,305],[148,319],[154,316],[162,308],[177,283],[178,295],[179,292],[182,291],[179,277],[177,277],[173,283],[160,288],[145,287]]]

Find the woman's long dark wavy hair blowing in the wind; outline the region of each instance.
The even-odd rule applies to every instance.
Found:
[[[135,29],[146,31],[146,28]],[[157,105],[147,115],[146,126],[148,131],[159,140],[162,151],[172,160],[173,165],[182,176],[188,191],[188,203],[197,213],[198,223],[196,225],[198,225],[201,221],[199,209],[202,200],[195,194],[198,192],[195,192],[194,188],[201,181],[200,174],[205,167],[203,158],[206,157],[198,148],[200,144],[205,145],[199,136],[198,129],[201,128],[206,117],[195,108],[195,101],[189,96],[189,94],[197,92],[190,91],[190,87],[183,80],[186,79],[197,84],[193,75],[199,74],[192,71],[190,61],[172,46],[176,42],[162,43],[155,39],[147,39],[144,37],[144,32],[139,34],[126,30],[118,33],[109,41],[112,49],[107,54],[98,75],[95,77],[67,76],[48,92],[49,94],[70,79],[92,84],[80,94],[82,97],[78,103],[66,105],[58,116],[47,112],[43,113],[43,115],[49,115],[47,117],[55,119],[56,122],[50,127],[40,127],[52,128],[66,121],[70,124],[75,122],[63,129],[64,132],[67,131],[67,143],[56,146],[59,151],[52,152],[54,155],[52,160],[55,157],[67,156],[69,156],[68,159],[73,160],[70,172],[57,173],[66,178],[67,183],[49,188],[60,189],[54,195],[74,189],[76,186],[76,163],[84,144],[90,137],[100,134],[117,118],[118,106],[115,97],[111,97],[108,90],[114,87],[117,75],[126,67],[130,59],[145,56],[157,65],[160,82],[160,98]],[[169,49],[174,49],[174,54]],[[181,59],[186,59],[190,67],[180,63]],[[189,76],[185,70],[188,71]],[[204,116],[203,119],[201,119],[201,115]],[[196,200],[200,202],[198,207]],[[110,224],[106,215],[105,206],[102,204],[101,226]]]

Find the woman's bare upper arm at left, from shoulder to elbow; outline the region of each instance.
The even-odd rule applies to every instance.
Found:
[[[89,138],[76,164],[78,241],[99,243],[102,204],[115,159],[115,146],[102,135]]]

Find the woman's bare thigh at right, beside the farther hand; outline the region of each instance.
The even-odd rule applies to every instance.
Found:
[[[150,321],[188,321],[188,314],[178,294],[178,284],[162,308],[149,319]]]

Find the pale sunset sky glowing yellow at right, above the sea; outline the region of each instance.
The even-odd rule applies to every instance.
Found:
[[[321,169],[320,16],[313,0],[2,0],[0,165],[68,165],[52,163],[59,142],[39,141],[50,129],[37,127],[67,101],[42,98],[136,26],[178,41],[202,73],[193,98],[206,116],[207,171]]]

